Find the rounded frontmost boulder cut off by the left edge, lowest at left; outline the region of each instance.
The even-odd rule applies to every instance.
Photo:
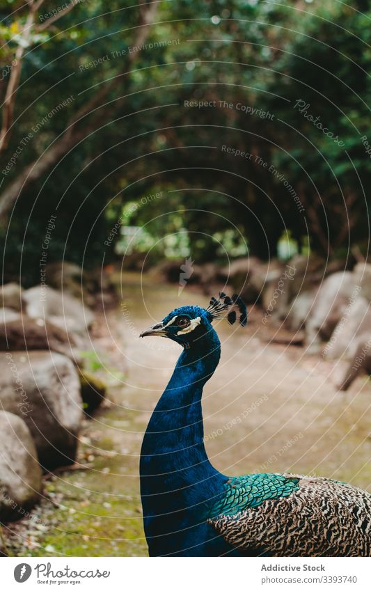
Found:
[[[29,428],[22,418],[0,411],[0,518],[20,519],[38,500],[41,468]]]

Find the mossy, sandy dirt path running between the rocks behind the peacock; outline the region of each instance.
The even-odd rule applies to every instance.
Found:
[[[145,297],[143,297],[145,294]],[[152,409],[180,349],[139,332],[182,304],[207,299],[177,287],[123,278],[118,309],[95,329],[110,404],[81,435],[77,469],[49,478],[32,519],[10,524],[17,555],[146,555],[139,498],[139,452]],[[267,345],[258,320],[247,329],[222,322],[222,356],[203,397],[207,452],[216,468],[315,473],[371,489],[371,386],[358,379],[338,393],[334,363],[303,349]],[[99,365],[99,364],[97,364]]]

